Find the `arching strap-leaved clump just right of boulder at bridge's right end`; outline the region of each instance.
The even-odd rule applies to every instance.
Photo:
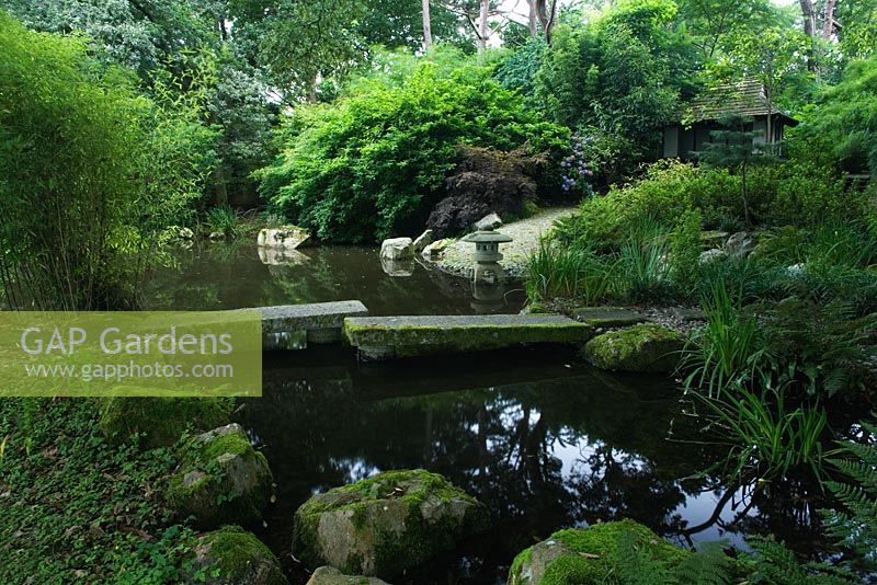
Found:
[[[768,359],[758,319],[743,312],[725,284],[717,283],[703,299],[707,323],[683,352],[685,388],[718,399],[731,385],[751,382]]]

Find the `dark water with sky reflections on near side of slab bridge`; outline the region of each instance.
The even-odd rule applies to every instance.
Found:
[[[331,349],[278,357],[264,371],[264,397],[244,409],[280,489],[269,520],[278,528],[266,538],[287,550],[295,508],[318,491],[421,467],[492,512],[483,541],[426,570],[475,583],[494,582],[515,552],[561,527],[634,518],[683,544],[741,543],[747,531],[776,527],[758,515],[771,514],[773,498],[749,497],[743,509],[715,479],[680,481],[720,454],[665,439],[680,412],[672,386],[640,377],[607,383],[565,357],[524,351],[389,368],[361,367]],[[695,438],[684,426],[676,421],[675,435]]]

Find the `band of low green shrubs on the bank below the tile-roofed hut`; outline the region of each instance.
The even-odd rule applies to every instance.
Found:
[[[867,196],[844,193],[842,181],[824,169],[795,163],[759,167],[750,169],[748,182],[749,215],[759,226],[873,221]],[[557,234],[567,242],[613,251],[642,218],[673,228],[693,209],[701,213],[705,229],[742,228],[747,209],[740,177],[725,169],[659,161],[641,179],[584,199],[577,216],[559,223]]]

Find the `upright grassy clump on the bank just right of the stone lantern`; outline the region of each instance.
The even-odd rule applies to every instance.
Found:
[[[531,301],[562,297],[597,302],[608,292],[611,275],[611,263],[591,250],[555,246],[543,240],[527,261],[527,296]]]

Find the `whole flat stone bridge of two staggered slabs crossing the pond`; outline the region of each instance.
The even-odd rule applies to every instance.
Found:
[[[366,317],[358,300],[264,307],[264,349],[346,342],[363,360],[529,344],[583,344],[593,326],[554,314]]]

